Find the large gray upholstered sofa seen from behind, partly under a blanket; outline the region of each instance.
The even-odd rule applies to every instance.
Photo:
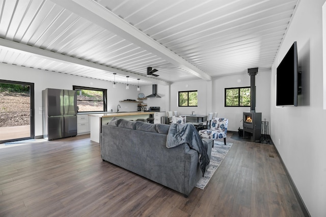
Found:
[[[193,138],[200,137],[194,126],[193,128],[188,126],[187,130],[183,131],[182,138],[179,137],[181,138],[179,144],[171,144],[173,141],[167,143],[169,129],[170,125],[166,124],[112,120],[102,126],[102,159],[172,188],[187,197],[203,176],[199,164],[200,155],[198,151],[189,147],[198,147],[199,144],[194,143],[200,142]],[[176,131],[181,130],[178,128]],[[184,140],[184,135],[188,139]],[[178,137],[170,134],[168,140],[171,138],[174,140],[173,138]],[[187,144],[189,142],[186,140],[189,138],[193,144]],[[207,144],[206,156],[209,164],[213,141],[204,139],[203,144],[204,146]],[[209,167],[207,164],[205,170]]]

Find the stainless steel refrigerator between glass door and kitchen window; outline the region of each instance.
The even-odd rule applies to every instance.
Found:
[[[77,135],[77,94],[73,90],[42,91],[43,138],[56,140]]]

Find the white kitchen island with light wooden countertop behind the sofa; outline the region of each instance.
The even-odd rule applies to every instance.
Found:
[[[154,112],[119,112],[119,113],[95,113],[89,114],[90,117],[90,131],[91,140],[100,143],[100,137],[102,132],[102,125],[110,122],[114,117],[123,118],[127,120],[147,119],[150,114]]]

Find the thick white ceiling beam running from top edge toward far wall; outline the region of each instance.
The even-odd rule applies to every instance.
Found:
[[[99,5],[95,1],[78,1],[78,0],[51,0],[53,3],[61,5],[67,10],[84,17],[87,20],[101,26],[105,30],[113,32],[120,37],[152,52],[154,55],[163,58],[170,63],[188,71],[189,73],[198,76],[204,80],[211,80],[211,77],[198,69],[191,63],[185,61],[176,53],[172,52],[165,46],[162,46],[152,38],[148,37],[143,32],[134,28],[134,26],[127,23],[111,11]],[[118,72],[117,72],[118,73]],[[120,72],[119,72],[120,73]],[[144,76],[142,76],[144,79]],[[157,80],[155,80],[156,83]]]

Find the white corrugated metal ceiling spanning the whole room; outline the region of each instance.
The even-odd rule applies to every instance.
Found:
[[[19,52],[5,45],[0,47],[0,61],[111,81],[112,72],[118,69],[122,74],[118,73],[116,81],[126,83],[124,78],[128,74],[131,85],[138,85],[139,77],[144,79],[140,85],[198,78],[192,70],[180,67],[184,60],[195,66],[195,71],[211,77],[247,73],[253,67],[268,70],[297,0],[89,2],[94,3],[99,14],[105,8],[108,15],[114,13],[130,23],[131,28],[173,51],[179,58],[177,63],[129,41],[123,34],[101,27],[100,22],[89,19],[91,13],[72,13],[71,8],[68,10],[71,3],[76,4],[71,0],[60,5],[56,0],[2,0],[0,37],[98,67],[42,58],[37,53]],[[103,70],[102,66],[106,68]],[[149,66],[159,70],[155,79],[146,77]]]

